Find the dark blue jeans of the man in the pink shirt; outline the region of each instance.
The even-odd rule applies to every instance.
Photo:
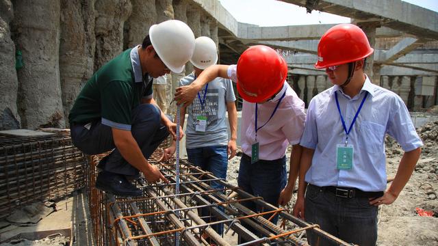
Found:
[[[280,193],[285,188],[286,182],[286,156],[274,161],[259,160],[253,164],[251,164],[250,156],[246,154],[243,154],[242,159],[240,159],[237,184],[244,191],[255,196],[263,197],[265,202],[279,206]],[[262,212],[261,206],[257,206],[255,202],[242,202],[242,205],[255,212]],[[265,209],[264,212],[266,211]],[[268,214],[264,217],[269,219],[271,216],[272,214]],[[274,217],[271,221],[272,223],[276,223],[278,216]],[[250,226],[248,226],[248,228],[250,228]],[[251,229],[252,228],[250,228],[250,230]],[[256,230],[251,231],[258,235]],[[240,243],[243,243],[243,241],[241,240]]]

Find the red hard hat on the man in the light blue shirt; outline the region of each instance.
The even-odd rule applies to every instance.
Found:
[[[357,25],[335,25],[321,37],[315,68],[347,64],[373,53],[365,33]]]

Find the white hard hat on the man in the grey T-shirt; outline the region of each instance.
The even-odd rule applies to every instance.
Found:
[[[216,44],[211,38],[199,37],[194,40],[194,53],[190,62],[196,68],[204,70],[218,61],[218,51]]]

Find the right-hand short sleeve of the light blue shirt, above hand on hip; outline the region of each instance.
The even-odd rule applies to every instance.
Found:
[[[391,107],[387,133],[396,139],[405,152],[423,146],[423,142],[415,131],[411,115],[401,98],[396,97]]]

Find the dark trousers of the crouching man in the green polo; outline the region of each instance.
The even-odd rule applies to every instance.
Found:
[[[138,105],[132,111],[131,134],[136,139],[140,150],[146,159],[155,151],[160,143],[169,135],[166,126],[161,123],[161,111],[155,105]],[[101,154],[113,150],[106,156],[99,167],[107,172],[138,176],[136,167],[129,164],[114,145],[112,129],[101,123],[92,122],[90,130],[84,124],[74,124],[70,127],[73,144],[86,154]]]

